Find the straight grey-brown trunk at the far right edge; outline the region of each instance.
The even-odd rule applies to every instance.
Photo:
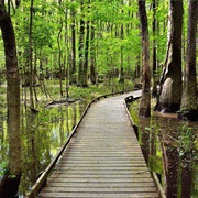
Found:
[[[188,35],[186,67],[184,75],[184,89],[182,99],[182,111],[189,111],[189,114],[197,112],[197,79],[196,79],[196,34],[198,22],[198,1],[190,0],[188,6]],[[195,114],[196,116],[196,114]],[[191,117],[191,116],[190,116]]]

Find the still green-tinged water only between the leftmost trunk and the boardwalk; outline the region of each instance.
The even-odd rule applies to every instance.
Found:
[[[24,170],[20,194],[35,183],[38,174],[64,145],[86,107],[86,102],[43,109],[38,114],[30,113],[22,125]]]

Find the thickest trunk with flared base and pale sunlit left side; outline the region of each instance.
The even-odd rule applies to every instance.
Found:
[[[175,112],[180,107],[183,0],[170,0],[169,14],[167,54],[155,107],[163,112]]]

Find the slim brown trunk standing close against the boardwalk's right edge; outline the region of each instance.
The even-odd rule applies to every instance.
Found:
[[[143,76],[142,76],[142,99],[139,114],[150,117],[151,114],[151,70],[150,70],[150,41],[147,15],[145,10],[145,1],[139,0],[139,15],[141,21],[141,38],[143,55]]]

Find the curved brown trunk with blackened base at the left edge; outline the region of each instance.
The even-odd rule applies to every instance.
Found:
[[[23,166],[20,133],[20,78],[14,31],[3,0],[0,0],[0,29],[6,54],[9,132],[9,165],[8,173],[0,184],[0,197],[12,198],[18,197],[18,186]]]

